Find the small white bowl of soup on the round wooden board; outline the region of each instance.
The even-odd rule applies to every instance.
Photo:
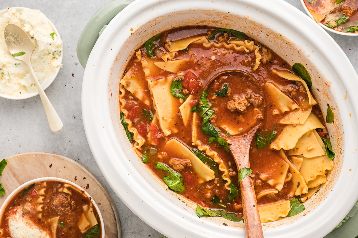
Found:
[[[38,178],[15,189],[0,209],[0,237],[104,238],[103,218],[92,197],[61,178]]]

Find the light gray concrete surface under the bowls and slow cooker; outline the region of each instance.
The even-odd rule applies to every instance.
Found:
[[[30,151],[53,152],[81,162],[106,186],[118,209],[122,237],[161,238],[116,196],[93,159],[82,124],[81,86],[84,69],[76,56],[82,29],[109,0],[1,0],[0,9],[13,6],[40,9],[56,26],[63,40],[63,69],[46,93],[63,120],[64,127],[53,133],[47,124],[39,96],[26,100],[0,97],[0,157]],[[299,0],[286,0],[304,11]],[[358,37],[330,35],[358,69]],[[72,76],[73,75],[73,76]],[[5,185],[6,188],[6,185]]]

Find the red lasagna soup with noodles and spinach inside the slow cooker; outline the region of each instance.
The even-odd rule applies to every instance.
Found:
[[[245,173],[252,170],[247,175],[261,222],[275,221],[302,212],[333,169],[311,85],[304,65],[289,65],[240,31],[174,28],[131,57],[120,80],[120,118],[142,162],[169,189],[198,204],[199,217],[235,222],[245,214],[230,137],[259,121]]]

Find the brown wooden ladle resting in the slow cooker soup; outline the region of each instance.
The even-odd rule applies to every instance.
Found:
[[[265,113],[265,98],[263,97],[264,94],[262,92],[260,84],[257,82],[255,78],[253,78],[250,74],[239,71],[239,70],[230,70],[225,72],[217,73],[215,76],[213,76],[208,83],[206,84],[204,91],[208,90],[208,87],[210,84],[214,81],[214,79],[218,78],[222,74],[228,74],[228,73],[240,73],[245,75],[248,80],[245,81],[248,83],[248,81],[251,80],[252,87],[255,87],[256,92],[261,94],[262,96],[262,103],[260,107],[260,111],[262,115]],[[225,81],[224,81],[225,82]],[[236,82],[240,83],[240,82]],[[250,83],[247,84],[248,87],[250,87]],[[235,94],[237,92],[231,91],[231,94]],[[232,116],[234,115],[233,112]],[[225,118],[225,120],[230,120],[228,117]],[[229,149],[231,151],[232,156],[234,157],[234,160],[236,162],[237,170],[243,168],[250,168],[250,160],[249,160],[249,154],[250,154],[250,145],[253,137],[255,136],[258,128],[260,127],[262,123],[262,120],[257,120],[254,123],[252,123],[249,128],[246,128],[246,130],[242,131],[241,135],[235,135],[235,136],[225,136],[223,133],[221,133],[221,137],[223,137],[226,140],[230,140],[231,145],[229,146]],[[253,187],[253,182],[251,176],[246,176],[244,179],[240,181],[240,189],[241,189],[241,200],[242,200],[242,208],[245,218],[245,233],[247,238],[263,238],[262,233],[262,227],[261,227],[261,221],[260,221],[260,215],[258,213],[258,207],[257,207],[257,201],[256,201],[256,195],[255,190]]]

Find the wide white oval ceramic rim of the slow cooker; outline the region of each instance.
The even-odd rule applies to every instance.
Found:
[[[169,6],[173,1],[175,0],[168,0],[165,2],[165,4]],[[179,4],[176,4],[175,6],[177,8],[175,8],[175,11],[181,11],[183,8],[185,8],[184,3],[188,3],[188,1],[176,2],[180,3],[180,6]],[[215,4],[214,2],[212,3]],[[349,81],[346,80],[342,82],[342,85],[347,89],[349,95],[349,99],[347,99],[345,103],[353,105],[351,102],[358,101],[358,95],[354,92],[354,88],[358,82],[358,76],[354,71],[352,64],[349,62],[342,49],[340,49],[337,43],[334,42],[334,40],[329,36],[329,34],[317,26],[317,24],[313,24],[312,20],[307,17],[307,15],[296,9],[294,6],[280,0],[271,0],[269,2],[264,0],[257,0],[255,2],[250,0],[241,0],[240,3],[246,4],[253,9],[256,8],[256,10],[259,12],[265,11],[268,15],[275,16],[276,19],[280,20],[286,26],[294,26],[298,22],[297,20],[300,20],[300,23],[303,25],[311,25],[310,28],[305,28],[304,30],[295,30],[297,30],[297,32],[300,33],[305,39],[325,39],[324,43],[313,44],[314,47],[316,47],[316,50],[319,50],[319,52],[321,52],[325,58],[335,59],[335,62],[337,63],[331,66],[334,71],[339,72],[339,78],[350,78]],[[113,20],[108,24],[106,29],[101,34],[101,37],[97,40],[97,43],[93,48],[91,55],[89,56],[87,67],[84,73],[84,83],[82,84],[82,117],[87,140],[100,170],[102,171],[112,189],[137,216],[139,216],[151,227],[164,235],[173,237],[208,237],[208,234],[211,234],[210,237],[214,237],[214,235],[216,235],[216,237],[220,237],[223,233],[219,233],[219,231],[223,231],[223,229],[216,230],[208,227],[206,225],[206,220],[202,220],[202,227],[199,228],[198,226],[195,226],[198,223],[197,219],[183,219],[184,215],[183,213],[180,213],[181,211],[179,209],[175,210],[175,212],[178,214],[174,214],[173,211],[170,211],[170,209],[167,210],[165,207],[168,203],[167,198],[156,196],[157,191],[146,188],[144,185],[140,184],[141,181],[139,181],[139,179],[137,181],[136,178],[133,178],[133,174],[138,173],[136,173],[137,171],[133,170],[133,168],[125,167],[128,165],[127,162],[125,162],[125,164],[121,164],[121,171],[116,171],[116,163],[118,163],[118,161],[116,161],[116,156],[126,157],[126,154],[120,153],[117,155],[113,153],[117,150],[114,147],[115,143],[113,143],[112,139],[115,138],[115,134],[117,132],[108,131],[108,128],[113,127],[112,118],[107,118],[107,116],[110,115],[109,109],[107,108],[108,95],[104,95],[108,94],[108,85],[103,86],[103,88],[101,86],[101,88],[98,89],[92,87],[95,85],[93,82],[94,80],[86,81],[86,79],[91,78],[103,78],[103,74],[98,73],[98,71],[101,73],[106,72],[104,75],[107,75],[107,71],[111,71],[113,65],[105,65],[101,58],[103,55],[105,55],[106,62],[112,59],[112,62],[115,62],[116,60],[118,52],[116,54],[111,53],[111,51],[107,49],[108,45],[112,45],[112,42],[110,42],[108,39],[112,39],[112,37],[114,37],[115,33],[113,33],[113,31],[118,30],[121,27],[130,28],[130,26],[127,26],[128,24],[125,25],[125,23],[130,21],[133,15],[141,16],[142,12],[144,12],[146,9],[153,9],[153,7],[157,4],[158,1],[156,0],[146,1],[145,4],[142,3],[142,1],[135,1],[131,3],[126,7],[125,11],[122,11],[115,18],[113,18]],[[195,2],[195,4],[198,3]],[[275,7],[273,8],[273,6]],[[195,7],[197,7],[197,5],[195,5]],[[174,6],[172,6],[171,9],[173,8]],[[201,8],[205,9],[205,7]],[[295,14],[292,14],[293,12],[295,12]],[[280,15],[277,15],[277,13],[280,13]],[[159,14],[153,16],[153,18],[156,16],[159,16]],[[125,36],[125,38],[126,37],[127,36]],[[329,48],[330,51],[326,51],[325,49],[327,48]],[[108,60],[109,58],[110,60]],[[105,68],[106,71],[104,71],[102,68]],[[107,68],[109,69],[107,70]],[[337,82],[339,83],[339,81]],[[102,107],[98,108],[100,109],[99,111],[93,111],[93,109],[96,107],[93,103],[97,102],[91,101],[91,98],[96,98],[97,101],[102,103]],[[352,106],[349,112],[352,112],[353,116],[352,118],[349,118],[349,116],[346,116],[346,114],[348,114],[347,110],[344,110],[344,108],[340,109],[340,114],[342,115],[342,118],[340,119],[344,120],[346,125],[352,127],[352,130],[345,131],[344,133],[344,140],[347,141],[348,138],[354,138],[355,136],[352,131],[356,130],[356,125],[358,125],[357,118],[354,118],[354,115],[357,115],[358,110],[357,106]],[[352,121],[354,123],[352,123]],[[353,156],[353,153],[354,152],[352,151],[348,151],[345,152],[345,155]],[[354,155],[353,157],[356,156]],[[347,163],[344,163],[342,170],[348,171],[348,166],[353,166],[353,168],[356,168],[354,166],[357,166],[357,164],[351,159],[348,162],[348,165]],[[342,177],[345,180],[343,180]],[[349,210],[358,198],[358,191],[350,189],[349,193],[342,194],[339,193],[340,189],[344,188],[347,191],[348,185],[350,185],[350,188],[352,188],[352,184],[357,184],[357,182],[357,173],[350,173],[349,176],[347,174],[341,173],[339,181],[335,183],[335,189],[333,190],[332,194],[329,194],[335,195],[341,200],[334,201],[332,200],[333,196],[328,195],[326,199],[321,202],[320,207],[316,208],[314,212],[307,214],[305,219],[295,221],[295,225],[301,225],[300,230],[295,229],[292,231],[291,227],[281,226],[275,228],[274,231],[264,231],[265,237],[287,237],[288,234],[295,234],[296,237],[323,237],[324,235],[328,234],[340,221],[342,221],[342,219],[346,214],[348,214]],[[168,196],[170,196],[170,193],[168,193]],[[330,203],[332,201],[334,201],[334,203]],[[339,203],[339,201],[341,202]],[[193,213],[195,214],[195,211],[193,211]],[[315,214],[315,219],[317,221],[321,221],[320,223],[310,223],[313,220],[313,213]],[[310,222],[307,220],[308,217],[311,217],[309,219]],[[327,217],[330,219],[327,219]],[[205,229],[205,231],[203,231],[203,229]],[[207,233],[204,234],[203,232]],[[226,233],[226,235],[227,237],[232,237],[230,236],[232,233]],[[243,235],[243,232],[237,231],[236,235]]]

